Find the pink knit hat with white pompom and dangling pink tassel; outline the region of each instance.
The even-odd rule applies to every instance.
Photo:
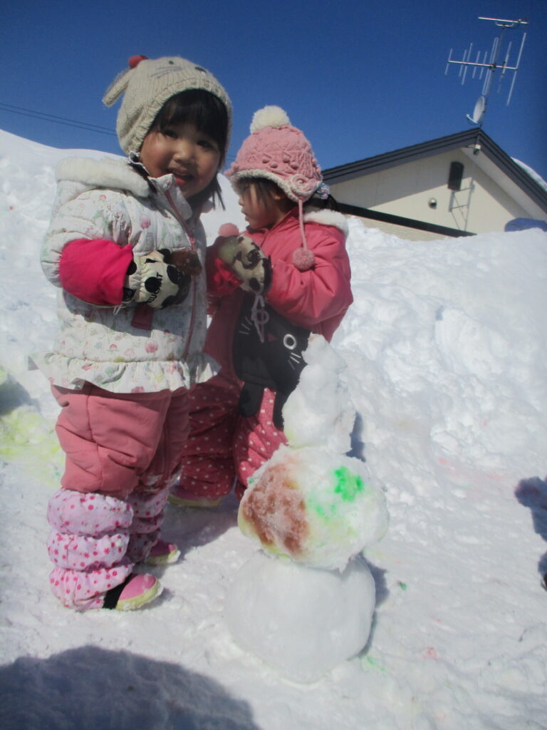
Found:
[[[239,180],[249,177],[271,180],[298,203],[300,233],[303,248],[295,251],[294,264],[301,271],[311,269],[314,255],[308,250],[303,224],[303,203],[322,188],[321,168],[311,145],[300,129],[291,126],[286,112],[280,107],[264,107],[255,112],[251,136],[225,174],[234,188]]]

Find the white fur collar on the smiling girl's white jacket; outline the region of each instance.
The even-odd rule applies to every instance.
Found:
[[[147,181],[122,159],[68,157],[58,164],[55,175],[58,181],[74,180],[98,188],[127,190],[139,198],[150,196]]]

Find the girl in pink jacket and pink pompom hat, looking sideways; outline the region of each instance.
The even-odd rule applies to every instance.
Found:
[[[230,238],[222,226],[207,251],[206,353],[222,369],[190,393],[190,437],[169,498],[180,506],[216,506],[234,481],[241,497],[287,442],[282,407],[309,334],[330,340],[352,303],[346,219],[325,208],[317,160],[283,110],[255,113],[226,174],[248,226]]]

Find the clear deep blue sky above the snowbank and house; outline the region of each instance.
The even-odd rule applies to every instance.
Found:
[[[525,18],[513,99],[510,79],[489,99],[484,131],[547,179],[547,0],[19,0],[0,28],[0,128],[53,147],[119,152],[117,105],[102,95],[128,57],[177,54],[206,66],[234,106],[233,158],[252,113],[279,104],[311,140],[324,169],[463,131],[481,82],[445,76],[451,47],[489,50],[498,29],[478,20]],[[505,31],[516,57],[522,30]],[[18,107],[18,110],[12,107]]]

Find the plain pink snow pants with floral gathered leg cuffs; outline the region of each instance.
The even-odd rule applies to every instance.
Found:
[[[101,608],[158,541],[188,433],[188,391],[111,393],[52,387],[66,454],[50,499],[50,584],[70,608]]]

